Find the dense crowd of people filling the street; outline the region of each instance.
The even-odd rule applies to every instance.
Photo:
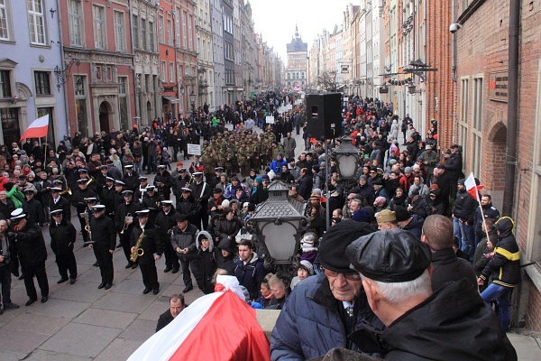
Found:
[[[34,276],[41,302],[48,301],[47,249],[42,236],[48,227],[59,283],[77,281],[73,250],[78,231],[96,256],[94,265],[102,278],[98,289],[113,286],[115,248],[122,248],[125,268],[140,268],[143,294],[160,292],[156,261],[161,256],[165,258],[163,272],[181,270],[183,293],[193,289],[193,279],[202,292],[211,293],[216,274],[235,275],[253,308],[283,309],[273,332],[273,359],[322,356],[336,346],[372,356],[392,353],[395,348],[410,352],[400,348],[401,340],[390,333],[400,315],[390,317],[376,305],[389,298],[385,303],[389,308],[414,296],[392,298],[381,291],[385,288],[381,282],[420,280],[422,301],[434,297],[445,301],[445,294],[463,291],[467,299],[457,302],[472,302],[474,311],[486,319],[483,325],[491,328],[494,321],[483,304],[496,301],[500,329],[491,335],[507,340],[503,330],[509,328],[510,294],[519,280],[514,224],[510,218],[500,218],[489,194],[480,195],[478,203],[465,190],[460,145],[440,153],[436,120],[423,138],[408,115],[402,120],[394,115],[391,104],[351,97],[344,106],[343,131],[351,136],[360,160],[354,176],[344,179],[333,155],[342,140],[310,138],[307,125],[301,123],[304,111],[300,106],[278,113],[281,104],[294,100],[270,93],[220,107],[215,113],[203,106],[194,119],[171,119],[164,124],[156,120],[141,133],[134,125],[130,132],[113,129],[91,138],[66,136],[56,151],[32,140],[22,146],[11,144],[11,151],[0,147],[0,166],[5,170],[0,176],[4,310],[18,307],[10,298],[11,273],[20,273],[24,279],[27,306],[38,300]],[[273,123],[264,123],[267,115],[274,116]],[[305,139],[299,154],[294,131],[302,131]],[[201,153],[186,162],[191,157],[190,143],[202,143]],[[150,173],[153,179],[147,177]],[[273,180],[289,185],[289,199],[307,204],[300,262],[295,273],[287,276],[265,268],[257,235],[248,222],[268,199]],[[70,222],[72,207],[78,229]],[[328,229],[326,210],[331,215]],[[344,256],[346,248],[361,239],[373,238],[377,241],[366,242],[374,245],[387,236],[408,248],[406,258],[397,259],[396,271],[372,269],[377,268],[373,264],[387,261],[367,264],[358,257],[359,252],[365,255],[359,248],[348,252],[349,258]],[[425,249],[420,252],[419,247]],[[423,254],[422,259],[408,260],[409,251],[412,257]],[[377,256],[377,252],[371,254],[374,259]],[[426,276],[429,264],[431,277]],[[392,273],[389,277],[388,272]],[[455,285],[447,286],[448,282]],[[478,284],[484,290],[481,296]],[[378,292],[384,294],[383,299]],[[170,302],[159,329],[185,306],[179,295]],[[419,327],[429,331],[433,325],[426,322]],[[367,324],[387,335],[385,340],[394,348],[365,348],[347,338]],[[301,335],[301,328],[307,335]],[[309,331],[319,328],[327,331],[317,335]]]

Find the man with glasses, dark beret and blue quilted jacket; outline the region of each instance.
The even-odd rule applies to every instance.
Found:
[[[358,272],[344,253],[360,236],[374,232],[367,223],[344,220],[331,227],[319,245],[324,272],[298,283],[272,330],[272,360],[305,360],[324,356],[333,347],[365,352],[347,338],[367,322],[383,324],[370,310]],[[378,356],[378,355],[374,355]]]

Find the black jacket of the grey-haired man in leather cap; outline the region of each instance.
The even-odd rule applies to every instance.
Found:
[[[491,306],[481,300],[477,286],[465,279],[446,284],[389,329],[379,332],[365,327],[352,338],[367,349],[387,352],[386,361],[517,360]]]

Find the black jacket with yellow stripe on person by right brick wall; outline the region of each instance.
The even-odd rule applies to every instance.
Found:
[[[520,249],[513,236],[513,221],[509,217],[501,218],[496,222],[496,229],[500,232],[500,242],[494,248],[494,257],[485,266],[481,279],[486,280],[492,274],[492,282],[504,287],[515,287],[520,281]]]

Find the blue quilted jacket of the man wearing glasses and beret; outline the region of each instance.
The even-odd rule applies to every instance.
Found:
[[[355,300],[358,309],[355,307],[353,330],[361,329],[364,322],[384,329],[364,293]],[[307,360],[324,356],[333,347],[359,350],[346,339],[338,307],[343,307],[342,302],[335,300],[325,273],[298,283],[272,330],[271,360]]]

